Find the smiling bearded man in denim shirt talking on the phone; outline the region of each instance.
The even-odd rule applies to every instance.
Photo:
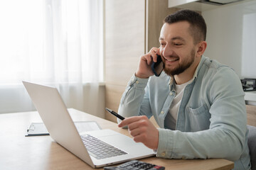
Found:
[[[135,142],[174,159],[224,158],[250,169],[244,92],[233,69],[203,56],[206,23],[189,10],[167,16],[160,47],[140,57],[119,114]],[[151,71],[161,55],[164,71]],[[224,56],[225,57],[225,56]],[[154,116],[160,128],[149,121]]]

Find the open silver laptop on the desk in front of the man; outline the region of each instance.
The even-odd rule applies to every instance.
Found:
[[[93,168],[155,155],[152,149],[142,143],[136,143],[132,138],[113,130],[79,134],[56,88],[26,81],[23,81],[23,85],[53,140]],[[102,152],[105,150],[102,147],[112,152],[106,151],[106,154]]]

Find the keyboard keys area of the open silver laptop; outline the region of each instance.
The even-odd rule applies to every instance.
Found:
[[[92,137],[92,135],[82,135],[81,138],[89,154],[96,159],[104,159],[107,157],[127,154],[127,152],[117,149],[96,137]]]

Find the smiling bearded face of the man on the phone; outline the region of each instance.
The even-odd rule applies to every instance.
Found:
[[[164,23],[160,33],[160,53],[164,72],[169,76],[181,74],[191,67],[195,60],[196,48],[189,34],[189,23]]]

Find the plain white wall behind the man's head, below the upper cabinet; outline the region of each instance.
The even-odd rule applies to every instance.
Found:
[[[256,1],[203,11],[208,26],[206,57],[256,79]]]

